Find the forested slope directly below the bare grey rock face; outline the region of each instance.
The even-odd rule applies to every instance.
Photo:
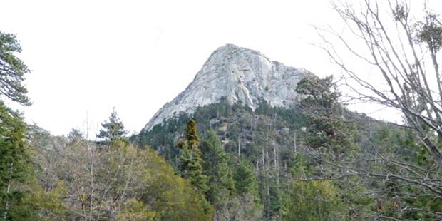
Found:
[[[333,111],[333,115],[329,116],[337,119],[336,123],[317,125],[330,119],[322,118],[317,121],[317,118],[311,118],[308,111],[312,110],[302,107],[275,108],[265,102],[256,111],[252,111],[241,104],[230,105],[224,101],[197,108],[193,115],[183,114],[166,120],[163,125],[157,125],[148,132],[143,131],[132,139],[140,147],[147,144],[152,146],[180,173],[182,149],[179,145],[186,140],[187,122],[194,119],[198,134],[203,140],[200,145],[202,165],[205,162],[214,162],[214,155],[207,153],[205,148],[207,143],[212,143],[229,162],[228,170],[218,168],[221,170],[218,174],[224,173],[231,177],[230,182],[235,184],[236,190],[242,190],[242,185],[247,184],[257,191],[257,200],[252,202],[252,205],[259,208],[257,216],[240,220],[304,220],[305,217],[309,217],[309,220],[327,220],[330,217],[341,220],[374,215],[378,212],[376,203],[391,199],[386,197],[380,202],[377,197],[361,194],[369,191],[371,185],[382,185],[382,182],[354,183],[353,179],[327,181],[312,178],[319,178],[324,175],[322,170],[332,168],[310,155],[309,149],[322,148],[319,150],[321,153],[332,153],[341,158],[344,158],[343,155],[371,155],[374,153],[372,146],[381,145],[384,140],[391,140],[391,145],[400,145],[401,138],[407,136],[408,130],[345,109],[337,113]],[[336,133],[345,133],[339,135],[339,139],[345,141],[329,140],[327,134],[322,135],[324,130],[328,130],[327,127],[333,127],[332,130]],[[325,143],[332,145],[332,142],[333,149],[324,146]],[[395,151],[394,148],[391,151]],[[407,153],[403,156],[411,157]],[[209,168],[202,167],[203,174],[208,178],[213,175],[210,168],[213,165]],[[250,174],[245,174],[245,168],[248,173],[252,173],[251,178]],[[309,181],[309,178],[312,180]],[[210,182],[208,184],[213,185]],[[348,189],[349,187],[354,190]],[[346,192],[348,190],[350,192]],[[237,196],[235,192],[220,194],[225,195],[222,203],[227,207],[216,202],[212,205],[215,206],[215,213],[224,214],[224,210],[231,210],[228,207],[232,203],[230,201],[236,200]],[[235,210],[247,209],[244,203],[242,205],[243,207],[236,207]],[[235,220],[235,216],[227,220]]]

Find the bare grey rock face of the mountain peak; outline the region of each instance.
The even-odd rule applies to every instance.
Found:
[[[212,53],[185,91],[155,113],[143,130],[180,113],[193,113],[197,106],[218,103],[223,97],[254,111],[262,100],[290,108],[297,98],[297,83],[311,74],[270,61],[259,51],[227,44]]]

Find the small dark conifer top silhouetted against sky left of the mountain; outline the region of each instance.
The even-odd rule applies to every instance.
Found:
[[[125,135],[128,133],[124,130],[124,125],[118,118],[115,108],[112,109],[109,121],[101,123],[103,129],[98,133],[97,138],[101,138],[107,145],[113,145],[118,140],[126,140]]]

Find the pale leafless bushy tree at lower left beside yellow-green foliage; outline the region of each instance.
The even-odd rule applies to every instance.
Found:
[[[38,148],[37,174],[44,192],[61,190],[66,215],[73,219],[115,219],[128,200],[145,192],[145,159],[133,145],[98,147],[89,140]]]

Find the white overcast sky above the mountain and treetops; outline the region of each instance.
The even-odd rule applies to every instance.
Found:
[[[289,66],[336,72],[312,25],[341,26],[328,0],[1,1],[0,31],[31,68],[26,120],[56,135],[91,133],[113,107],[138,132],[225,43]],[[14,106],[16,107],[16,106]]]

